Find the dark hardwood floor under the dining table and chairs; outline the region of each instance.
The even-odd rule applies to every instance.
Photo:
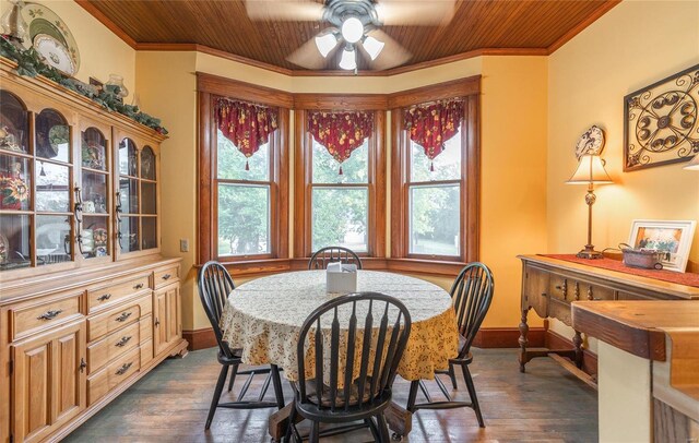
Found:
[[[475,349],[472,374],[486,420],[479,429],[471,409],[420,410],[407,442],[596,442],[597,395],[550,359],[519,372],[514,349]],[[204,421],[220,370],[215,350],[169,359],[76,429],[66,442],[269,442],[273,409],[218,409],[209,432]],[[461,376],[461,374],[458,374]],[[250,393],[262,383],[253,382]],[[258,379],[256,378],[256,379]],[[445,382],[448,379],[445,376]],[[239,388],[242,380],[236,381]],[[467,399],[463,379],[457,398]],[[449,386],[450,384],[447,383]],[[438,388],[428,382],[430,393]],[[394,398],[405,405],[408,384],[399,379]],[[285,383],[285,398],[292,397]],[[236,393],[234,388],[234,394]],[[225,397],[224,392],[224,397]],[[420,400],[418,395],[418,402]],[[272,397],[272,390],[268,397]],[[359,431],[328,442],[370,441]]]

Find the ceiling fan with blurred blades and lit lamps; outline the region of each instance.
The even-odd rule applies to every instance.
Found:
[[[318,21],[328,23],[312,39],[286,59],[299,67],[319,70],[335,50],[342,50],[340,68],[357,70],[359,55],[372,70],[405,63],[412,55],[389,37],[383,25],[446,25],[454,13],[455,0],[247,0],[251,20]]]

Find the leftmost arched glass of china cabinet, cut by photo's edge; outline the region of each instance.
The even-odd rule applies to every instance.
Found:
[[[32,265],[29,119],[17,97],[0,91],[0,272]]]

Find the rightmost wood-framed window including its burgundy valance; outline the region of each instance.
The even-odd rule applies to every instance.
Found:
[[[477,260],[478,83],[466,79],[392,97],[393,259]],[[458,111],[438,113],[440,128],[418,124],[420,111],[431,119],[449,109]]]

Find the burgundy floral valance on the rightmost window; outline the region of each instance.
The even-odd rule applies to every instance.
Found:
[[[445,142],[454,136],[463,120],[463,101],[452,99],[431,105],[417,105],[405,111],[403,129],[425,149],[430,160],[443,149]]]

